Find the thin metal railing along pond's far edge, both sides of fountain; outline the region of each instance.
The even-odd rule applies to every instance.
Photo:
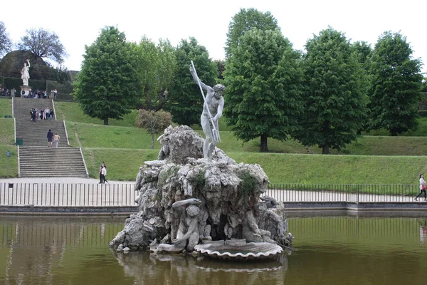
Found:
[[[263,195],[278,202],[413,202],[418,185],[280,184]],[[1,183],[0,205],[136,206],[134,185],[81,183]],[[423,200],[420,197],[419,200]]]

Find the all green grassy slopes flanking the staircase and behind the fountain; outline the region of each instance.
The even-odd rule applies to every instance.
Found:
[[[135,128],[137,111],[124,120],[110,120],[102,125],[84,115],[77,103],[56,102],[58,120],[65,119],[70,145],[83,147],[86,165],[91,177],[98,176],[98,167],[105,161],[107,179],[135,180],[139,167],[147,160],[156,160],[160,145],[155,137],[151,150],[151,137],[146,130]],[[11,100],[0,100],[0,115],[11,114]],[[272,183],[306,184],[414,184],[421,172],[427,174],[427,118],[421,118],[420,128],[399,137],[390,137],[384,130],[371,132],[347,145],[333,155],[320,155],[317,146],[304,147],[295,140],[280,142],[268,139],[270,152],[259,153],[260,139],[243,143],[236,140],[230,128],[221,120],[221,140],[218,144],[236,162],[258,163]],[[9,171],[17,175],[16,147],[13,120],[0,118],[1,165],[6,165],[4,153],[13,153]],[[192,128],[203,137],[199,125]],[[409,135],[413,136],[409,136]],[[12,175],[13,173],[13,175]],[[2,167],[0,177],[6,177]]]

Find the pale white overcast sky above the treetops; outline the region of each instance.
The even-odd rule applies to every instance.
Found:
[[[213,59],[223,59],[231,18],[241,8],[270,11],[294,48],[304,50],[313,34],[332,26],[347,39],[367,41],[374,47],[384,31],[406,36],[413,57],[427,64],[427,1],[423,0],[44,0],[2,1],[0,21],[14,42],[28,28],[45,28],[58,34],[68,58],[65,67],[79,71],[85,53],[105,26],[117,26],[128,41],[142,36],[177,46],[194,36]],[[422,67],[427,71],[426,66]],[[30,71],[31,73],[31,71]]]

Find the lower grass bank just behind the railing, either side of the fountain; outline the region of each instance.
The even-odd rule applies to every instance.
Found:
[[[91,177],[105,161],[111,180],[135,180],[144,161],[156,160],[158,150],[83,148]],[[301,184],[416,184],[427,173],[427,157],[372,155],[298,155],[230,152],[236,162],[258,163],[270,182]]]

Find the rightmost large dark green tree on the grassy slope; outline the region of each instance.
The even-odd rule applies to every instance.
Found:
[[[418,125],[423,76],[421,61],[400,33],[383,33],[371,56],[369,108],[372,129],[385,128],[392,136]]]

